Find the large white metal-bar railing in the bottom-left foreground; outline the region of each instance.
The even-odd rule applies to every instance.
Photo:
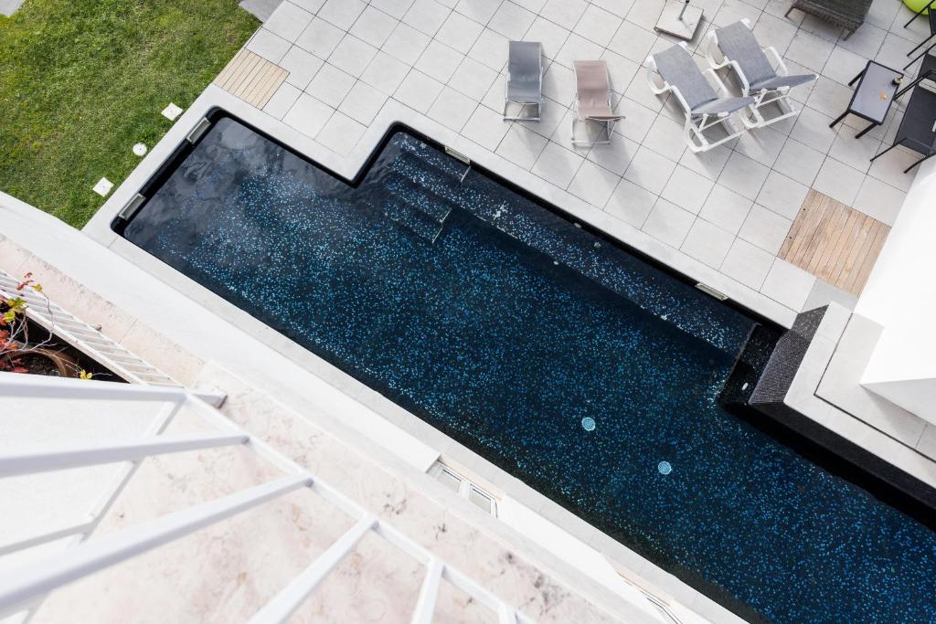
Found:
[[[357,523],[314,559],[308,568],[261,608],[251,621],[285,622],[328,577],[335,566],[354,549],[361,538],[370,532],[396,545],[426,566],[427,572],[419,591],[412,622],[431,622],[439,585],[443,579],[490,608],[497,614],[500,624],[526,624],[533,621],[519,614],[490,590],[448,565],[392,525],[370,514],[357,502],[319,480],[313,473],[300,467],[269,444],[232,423],[206,400],[220,402],[222,398],[211,395],[197,396],[183,388],[41,378],[14,373],[0,373],[0,396],[69,400],[148,400],[156,404],[165,403],[153,428],[142,440],[75,443],[56,448],[17,450],[12,454],[0,455],[0,477],[112,462],[124,462],[125,466],[113,491],[95,506],[91,519],[87,522],[35,535],[16,544],[0,545],[0,554],[6,554],[67,535],[79,536],[77,544],[57,555],[0,575],[0,618],[24,610],[35,613],[37,606],[56,588],[153,550],[162,544],[168,544],[263,502],[308,487],[344,513],[356,518]],[[211,435],[160,435],[183,406],[191,408],[206,422],[220,429],[220,432]],[[284,472],[284,476],[128,529],[87,539],[145,457],[230,444],[242,444],[244,448],[255,452]]]

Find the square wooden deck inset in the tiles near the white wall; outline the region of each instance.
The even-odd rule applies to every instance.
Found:
[[[810,189],[779,255],[857,296],[889,232],[889,225]]]

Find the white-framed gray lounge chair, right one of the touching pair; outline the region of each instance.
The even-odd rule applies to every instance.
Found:
[[[773,55],[772,65],[765,51]],[[750,114],[741,118],[749,128],[761,128],[797,115],[799,110],[790,100],[790,89],[817,78],[815,74],[789,76],[775,48],[761,49],[747,20],[712,29],[706,46],[706,58],[715,69],[730,66],[740,82],[741,94],[754,98]],[[773,108],[778,112],[765,117],[764,111]]]

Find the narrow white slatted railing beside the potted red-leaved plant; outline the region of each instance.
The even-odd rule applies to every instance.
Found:
[[[17,290],[19,283],[14,277],[0,270],[0,296],[22,298],[26,302],[26,316],[46,331],[54,333],[62,341],[97,360],[130,383],[180,386],[162,370],[127,351],[119,342],[110,340],[95,327],[91,327],[46,297],[38,295],[31,288]]]

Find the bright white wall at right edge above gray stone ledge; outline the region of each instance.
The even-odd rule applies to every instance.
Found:
[[[884,327],[861,385],[936,423],[936,162],[917,174],[855,312]]]

